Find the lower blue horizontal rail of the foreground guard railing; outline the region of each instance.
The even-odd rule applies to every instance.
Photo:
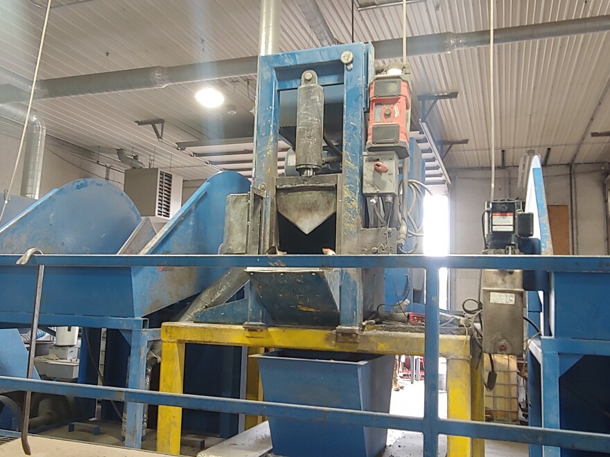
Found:
[[[3,388],[15,391],[30,390],[52,395],[76,395],[78,397],[97,398],[99,400],[159,404],[177,406],[184,409],[216,411],[219,413],[266,415],[360,427],[415,431],[419,433],[423,431],[423,418],[387,413],[299,404],[256,402],[253,400],[203,395],[177,395],[130,388],[92,386],[88,384],[42,381],[40,379],[23,379],[8,376],[0,376],[0,383]],[[484,422],[439,418],[437,418],[437,431],[445,435],[525,442],[533,445],[550,445],[564,447],[565,449],[582,449],[584,451],[607,451],[610,449],[610,435],[585,433],[582,431],[552,430],[540,427],[487,424]]]

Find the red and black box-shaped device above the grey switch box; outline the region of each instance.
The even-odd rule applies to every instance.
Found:
[[[370,114],[367,150],[394,151],[399,159],[409,156],[411,91],[409,75],[376,75],[369,85]]]

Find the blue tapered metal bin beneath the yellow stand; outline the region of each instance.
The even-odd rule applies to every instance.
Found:
[[[390,411],[393,355],[278,350],[253,355],[259,361],[265,401]],[[381,454],[386,429],[269,418],[273,453],[278,456]]]

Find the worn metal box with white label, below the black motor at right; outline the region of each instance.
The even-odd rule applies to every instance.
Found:
[[[523,355],[523,270],[483,270],[483,352]]]

